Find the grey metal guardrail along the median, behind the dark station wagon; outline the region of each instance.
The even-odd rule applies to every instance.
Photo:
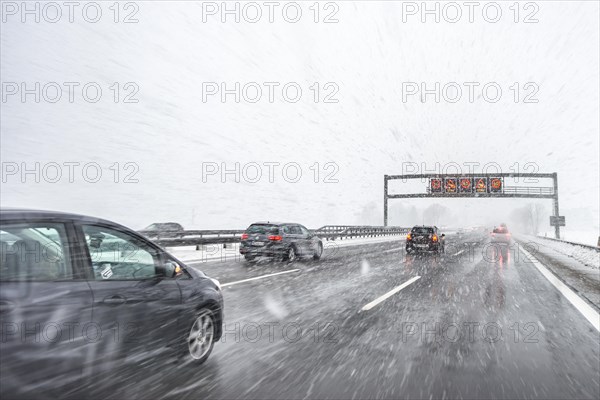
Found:
[[[411,228],[399,226],[325,225],[312,229],[315,235],[325,240],[353,239],[405,235]],[[179,232],[139,231],[148,239],[164,247],[199,246],[204,244],[239,243],[245,230],[189,230]]]

